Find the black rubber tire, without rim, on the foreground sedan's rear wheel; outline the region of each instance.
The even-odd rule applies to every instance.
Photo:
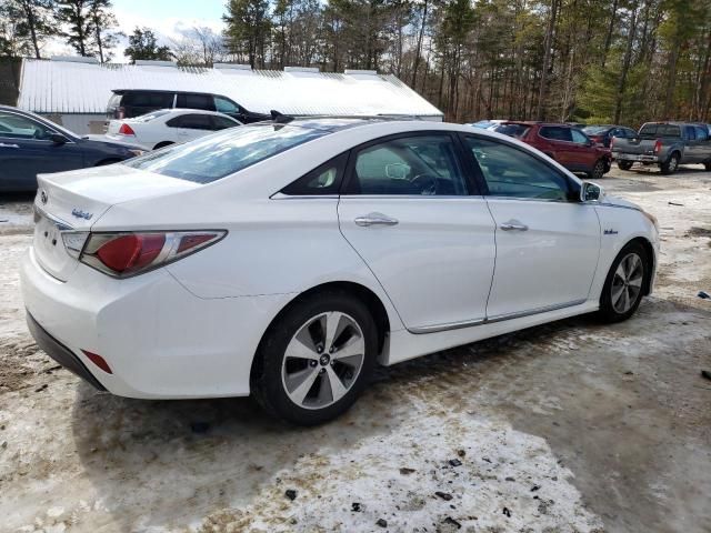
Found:
[[[348,392],[340,400],[323,408],[307,409],[291,400],[289,392],[286,390],[286,378],[282,378],[282,365],[283,369],[287,369],[284,363],[286,351],[294,335],[303,331],[304,324],[308,324],[309,321],[328,312],[344,313],[357,322],[364,341],[364,354],[360,372],[349,385]],[[365,304],[346,291],[330,290],[320,292],[289,308],[264,333],[252,369],[251,391],[264,411],[278,419],[298,425],[321,424],[348,411],[358,399],[370,380],[377,352],[378,331]],[[323,354],[326,354],[326,351]],[[328,363],[321,364],[328,365]],[[314,366],[317,365],[314,364]],[[331,363],[331,366],[333,366],[333,363]],[[324,374],[327,370],[319,369],[323,376],[316,378],[318,381],[313,382],[314,386],[323,386],[321,380],[327,379]],[[330,386],[329,390],[331,390]],[[313,386],[310,386],[311,392],[313,392]]]

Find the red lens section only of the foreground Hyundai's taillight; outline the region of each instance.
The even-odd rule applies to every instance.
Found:
[[[107,242],[96,254],[103,264],[114,272],[140,270],[150,264],[163,249],[166,235],[130,234]]]

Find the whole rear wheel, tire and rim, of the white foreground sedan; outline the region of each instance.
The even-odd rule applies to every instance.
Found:
[[[260,345],[252,392],[269,413],[300,425],[327,422],[361,393],[378,334],[368,308],[342,291],[298,302]]]

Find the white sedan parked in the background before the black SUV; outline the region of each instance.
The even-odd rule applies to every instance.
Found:
[[[242,123],[216,111],[161,109],[133,119],[110,121],[107,137],[112,141],[127,141],[147,150],[157,150],[237,125]]]

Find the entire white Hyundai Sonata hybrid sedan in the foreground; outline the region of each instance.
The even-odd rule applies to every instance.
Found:
[[[39,177],[30,331],[97,389],[253,394],[317,424],[390,365],[567,316],[630,318],[655,219],[468,125],[280,117]]]

